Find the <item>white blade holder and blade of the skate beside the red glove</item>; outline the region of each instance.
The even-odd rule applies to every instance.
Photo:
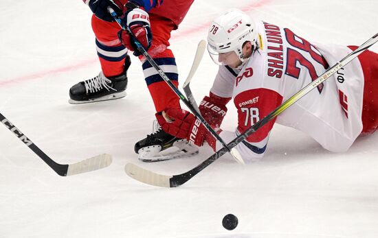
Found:
[[[169,147],[166,150],[160,150],[160,145],[146,147],[146,149],[142,148],[139,152],[138,159],[143,162],[151,163],[173,160],[175,158],[188,158],[198,154],[198,148],[184,140],[176,141],[173,143],[172,147]]]

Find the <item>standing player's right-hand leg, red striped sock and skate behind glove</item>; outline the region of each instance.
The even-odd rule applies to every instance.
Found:
[[[148,49],[148,53],[153,60],[159,64],[159,67],[162,68],[173,84],[178,86],[179,75],[177,72],[175,56],[173,55],[173,52],[168,49],[168,46],[170,45],[168,41],[170,39],[170,32],[175,29],[175,23],[160,16],[156,16],[155,14],[150,14],[150,21],[151,32],[153,33],[153,43],[151,48]],[[179,97],[173,92],[168,84],[164,82],[155,68],[153,68],[148,61],[144,60],[143,57],[140,58],[142,60],[143,73],[148,86],[148,91],[150,91],[156,111],[161,112],[168,107],[179,107]],[[135,152],[140,154],[141,159],[141,154],[145,154],[146,151],[151,152],[151,148],[158,148],[157,150],[154,150],[153,153],[166,150],[169,147],[177,147],[178,144],[180,145],[178,147],[181,151],[190,149],[188,149],[186,142],[181,142],[183,142],[182,139],[171,136],[160,128],[157,132],[149,134],[145,139],[138,141],[135,144]],[[181,145],[184,147],[181,147]],[[197,153],[197,150],[195,150],[195,152]],[[148,156],[155,156],[155,154],[148,154]],[[157,156],[154,160],[161,160],[161,157]]]

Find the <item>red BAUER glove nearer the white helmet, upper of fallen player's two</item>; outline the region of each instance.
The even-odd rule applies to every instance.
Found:
[[[210,97],[203,97],[199,104],[199,111],[205,121],[211,126],[219,128],[227,112],[226,104],[231,97],[219,97],[210,92]]]

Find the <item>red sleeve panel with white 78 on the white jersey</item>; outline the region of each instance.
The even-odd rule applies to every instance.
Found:
[[[243,91],[234,98],[238,108],[238,131],[243,133],[251,125],[267,116],[282,103],[282,96],[267,88],[256,88]],[[254,134],[247,137],[248,142],[263,141],[273,128],[276,118],[266,123]]]

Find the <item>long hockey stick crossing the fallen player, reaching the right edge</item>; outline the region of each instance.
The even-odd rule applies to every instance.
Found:
[[[367,40],[366,43],[362,44],[360,47],[358,47],[357,49],[349,53],[348,56],[340,60],[340,62],[337,62],[333,67],[331,67],[331,69],[327,70],[322,75],[320,75],[320,77],[317,78],[315,81],[311,82],[310,84],[302,88],[302,90],[300,90],[298,93],[296,93],[295,95],[287,99],[287,101],[283,102],[280,106],[278,106],[276,109],[270,112],[269,115],[267,115],[262,120],[255,123],[253,126],[249,127],[247,130],[245,130],[245,132],[243,132],[243,134],[240,134],[239,136],[237,136],[234,140],[232,140],[227,145],[230,148],[233,148],[236,145],[238,145],[238,143],[241,143],[241,141],[247,138],[247,136],[256,132],[258,128],[261,128],[262,126],[264,126],[268,121],[270,121],[271,119],[274,119],[274,117],[280,115],[280,113],[286,110],[289,106],[297,102],[300,98],[302,98],[304,95],[306,95],[311,90],[313,90],[313,88],[316,88],[319,84],[324,82],[331,75],[333,75],[342,67],[344,67],[346,64],[351,62],[351,60],[359,56],[360,53],[362,53],[363,51],[368,49],[370,46],[377,43],[377,41],[378,41],[378,34],[375,34],[375,36]],[[126,170],[126,174],[131,176],[131,178],[134,178],[135,180],[138,180],[140,182],[144,182],[148,185],[154,185],[154,186],[159,186],[159,187],[179,187],[180,185],[183,185],[185,182],[193,178],[200,171],[205,169],[205,167],[208,167],[208,165],[212,164],[220,156],[225,154],[225,152],[227,152],[227,150],[225,150],[225,147],[223,147],[221,148],[221,150],[218,150],[216,153],[214,153],[212,156],[207,158],[201,164],[197,165],[197,167],[190,169],[184,174],[178,174],[174,176],[166,176],[162,174],[157,174],[153,171],[143,169],[131,163],[128,163],[126,165],[125,170]]]

